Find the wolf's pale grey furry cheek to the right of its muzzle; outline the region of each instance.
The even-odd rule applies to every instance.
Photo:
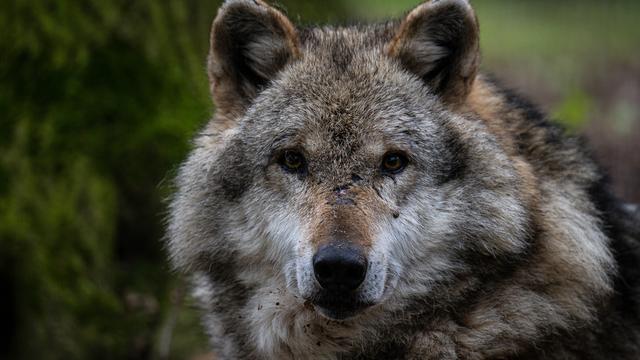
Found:
[[[399,269],[395,294],[444,303],[460,296],[460,284],[470,288],[526,251],[526,204],[519,184],[510,179],[512,168],[503,167],[500,181],[476,177],[440,186],[422,184],[407,196],[401,215],[380,231],[389,263]]]

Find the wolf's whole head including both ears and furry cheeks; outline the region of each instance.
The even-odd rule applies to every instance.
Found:
[[[526,169],[467,110],[478,63],[463,0],[313,29],[227,1],[216,116],[172,204],[174,263],[233,301],[270,289],[331,319],[463,299],[528,246]]]

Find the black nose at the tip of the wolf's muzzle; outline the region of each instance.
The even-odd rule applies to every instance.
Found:
[[[325,290],[351,291],[364,281],[367,259],[356,247],[326,245],[313,256],[313,271]]]

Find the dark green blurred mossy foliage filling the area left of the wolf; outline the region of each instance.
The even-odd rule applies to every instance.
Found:
[[[216,5],[0,4],[3,354],[150,356],[173,283],[162,184],[210,113]]]

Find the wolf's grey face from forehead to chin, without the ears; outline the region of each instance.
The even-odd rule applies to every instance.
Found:
[[[339,73],[313,55],[283,71],[225,150],[244,164],[219,175],[244,192],[238,242],[264,242],[288,288],[332,318],[396,286],[424,295],[466,270],[467,252],[521,246],[517,180],[495,140],[461,133],[468,120],[382,53],[353,56]]]

